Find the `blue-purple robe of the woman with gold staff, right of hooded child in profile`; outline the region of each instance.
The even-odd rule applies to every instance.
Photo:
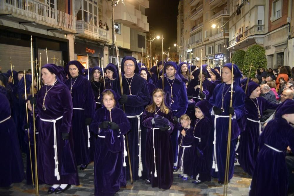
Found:
[[[225,87],[224,87],[225,85]],[[224,89],[223,89],[224,88]],[[231,85],[221,83],[216,86],[213,91],[212,97],[209,99],[209,103],[213,106],[221,108],[222,105],[222,93],[224,90],[224,102],[223,108],[224,112],[220,115],[229,115],[229,106],[230,106],[230,97],[231,93],[229,92]],[[225,93],[228,91],[228,93]],[[232,107],[235,110],[235,115],[232,120],[232,132],[231,132],[231,145],[230,145],[230,163],[229,163],[229,175],[228,179],[230,180],[233,177],[234,171],[234,157],[235,157],[235,146],[236,140],[240,135],[240,127],[237,120],[243,117],[244,115],[244,98],[245,93],[242,88],[234,83],[233,85],[233,105]],[[214,169],[211,170],[211,175],[218,178],[220,181],[225,179],[225,164],[227,156],[227,140],[228,140],[228,125],[229,118],[218,118],[216,120],[216,158],[218,164],[218,172],[215,172]]]

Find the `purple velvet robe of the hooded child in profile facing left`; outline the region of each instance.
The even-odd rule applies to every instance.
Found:
[[[196,125],[193,136],[193,179],[201,181],[211,181],[211,153],[210,144],[213,142],[210,139],[211,120],[210,117],[202,118]],[[200,138],[200,139],[198,139]],[[198,151],[198,152],[197,152]],[[197,155],[198,154],[198,155]]]

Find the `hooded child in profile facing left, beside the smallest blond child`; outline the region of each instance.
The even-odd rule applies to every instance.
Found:
[[[195,142],[193,144],[193,184],[200,184],[204,181],[211,181],[211,152],[209,145],[211,131],[211,115],[209,109],[211,105],[207,100],[201,100],[195,105],[195,116],[197,118],[193,129]]]

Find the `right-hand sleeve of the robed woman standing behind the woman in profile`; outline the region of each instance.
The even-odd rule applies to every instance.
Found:
[[[85,117],[93,118],[95,115],[96,101],[94,97],[94,93],[91,87],[91,83],[87,81],[84,86],[84,95],[85,95]]]

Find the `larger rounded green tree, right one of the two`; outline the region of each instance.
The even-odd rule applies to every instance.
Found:
[[[262,46],[256,44],[247,49],[244,55],[243,74],[248,76],[251,64],[253,67],[251,68],[250,78],[254,78],[255,70],[266,69],[268,62],[265,57],[265,49]]]

